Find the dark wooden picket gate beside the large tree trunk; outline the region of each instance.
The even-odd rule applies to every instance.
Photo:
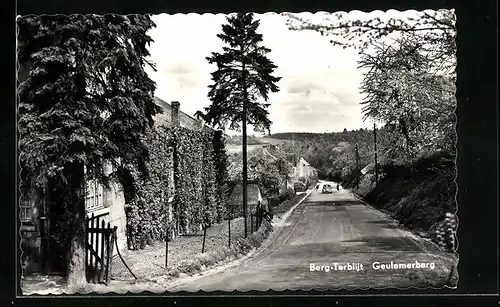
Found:
[[[92,283],[108,283],[111,273],[113,247],[116,240],[117,226],[111,227],[101,214],[87,217],[85,263],[87,281]]]

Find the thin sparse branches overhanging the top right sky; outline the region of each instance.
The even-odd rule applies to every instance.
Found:
[[[325,14],[321,22],[293,13],[284,15],[288,17],[290,29],[317,31],[330,37],[333,46],[365,51],[384,40],[387,42],[395,37],[407,37],[423,45],[433,66],[449,69],[455,65],[454,10],[404,12],[399,16],[382,18],[374,15],[352,18],[345,13],[334,13]]]

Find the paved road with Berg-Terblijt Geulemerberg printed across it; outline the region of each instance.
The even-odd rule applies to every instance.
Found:
[[[321,188],[313,191],[284,226],[275,229],[260,253],[233,268],[180,281],[169,291],[441,287],[448,282],[453,267],[449,256],[350,191],[335,187],[333,194],[321,194]],[[377,262],[391,261],[429,267],[374,268]],[[317,271],[318,266],[325,267]]]

